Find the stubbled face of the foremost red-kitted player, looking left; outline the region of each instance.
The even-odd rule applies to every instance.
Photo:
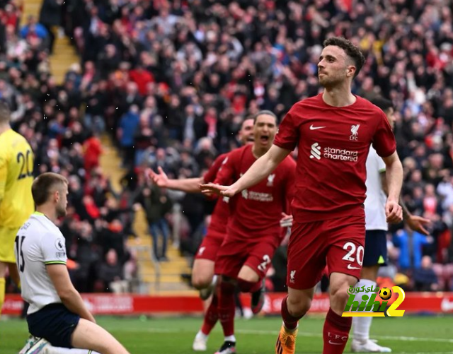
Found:
[[[346,78],[353,76],[355,66],[343,49],[336,45],[328,45],[321,52],[318,63],[319,84],[324,88],[332,88],[344,83]]]

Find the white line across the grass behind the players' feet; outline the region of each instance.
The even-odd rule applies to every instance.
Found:
[[[163,329],[163,328],[147,328],[147,329],[126,329],[127,331],[147,331],[152,333],[184,333],[190,332],[187,329]],[[125,329],[122,329],[125,331]],[[238,334],[257,334],[257,335],[273,335],[277,336],[278,331],[265,331],[260,329],[236,329],[236,333]],[[317,333],[304,333],[299,331],[297,336],[302,337],[318,337],[321,338],[322,334]],[[408,342],[435,342],[435,343],[453,343],[453,339],[448,338],[418,338],[418,337],[406,337],[406,336],[372,336],[373,338],[377,339],[387,339],[389,341],[408,341]],[[438,353],[430,353],[430,354],[453,354],[453,352],[438,352]],[[412,354],[422,354],[422,353],[412,353]]]

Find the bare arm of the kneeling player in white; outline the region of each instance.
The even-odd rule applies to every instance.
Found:
[[[79,292],[72,285],[66,264],[47,264],[45,268],[63,305],[81,318],[96,323],[93,315],[86,308]]]

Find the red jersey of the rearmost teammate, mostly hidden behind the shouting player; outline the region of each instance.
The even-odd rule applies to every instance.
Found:
[[[217,158],[214,160],[214,163],[212,163],[210,169],[203,176],[203,180],[206,183],[210,182],[213,183],[215,181],[217,172],[219,172],[219,169],[222,167],[222,164],[224,164],[228,159],[227,156],[228,153],[224,153],[222,155],[217,156]],[[229,218],[228,202],[229,198],[226,196],[219,197],[217,199],[217,203],[214,206],[214,211],[212,211],[211,222],[209,225],[210,229],[220,232],[224,235],[226,235],[226,224],[228,223]]]

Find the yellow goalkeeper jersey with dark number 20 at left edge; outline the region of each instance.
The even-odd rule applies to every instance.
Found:
[[[35,211],[33,151],[13,129],[0,134],[0,226],[20,228]]]

